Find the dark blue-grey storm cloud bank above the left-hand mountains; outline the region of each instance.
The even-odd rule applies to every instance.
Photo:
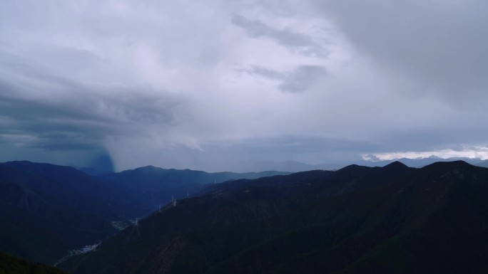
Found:
[[[24,78],[0,77],[4,142],[52,150],[98,149],[107,136],[131,136],[148,125],[178,123],[175,115],[183,101],[172,95],[83,85],[26,61],[10,60],[8,65],[14,68],[10,75]],[[52,95],[50,87],[62,93]]]

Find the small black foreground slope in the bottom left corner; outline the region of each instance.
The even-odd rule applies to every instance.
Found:
[[[42,263],[30,263],[24,259],[0,251],[0,273],[2,274],[66,274],[59,268]]]

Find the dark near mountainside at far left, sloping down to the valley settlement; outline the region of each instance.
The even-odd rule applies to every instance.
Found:
[[[0,250],[54,263],[68,250],[106,238],[109,221],[53,198],[45,177],[0,165]]]

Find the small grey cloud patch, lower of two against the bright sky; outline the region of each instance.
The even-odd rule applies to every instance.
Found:
[[[325,68],[320,65],[300,65],[287,72],[278,72],[263,66],[253,65],[250,69],[243,71],[250,75],[259,75],[270,80],[278,80],[280,82],[278,90],[284,93],[304,92],[327,74]]]

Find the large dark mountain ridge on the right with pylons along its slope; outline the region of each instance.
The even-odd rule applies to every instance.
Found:
[[[488,169],[466,162],[351,165],[205,190],[61,267],[73,274],[488,270]]]

